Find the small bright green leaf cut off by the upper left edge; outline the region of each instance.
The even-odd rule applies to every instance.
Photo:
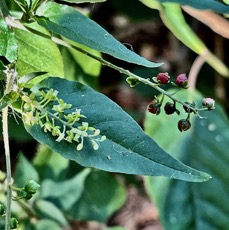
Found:
[[[0,19],[0,56],[4,56],[9,62],[17,59],[17,39],[14,31],[10,29],[3,19]]]

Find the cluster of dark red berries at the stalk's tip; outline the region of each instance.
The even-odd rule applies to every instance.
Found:
[[[157,85],[166,85],[170,82],[170,76],[168,73],[159,73],[157,77],[153,77],[154,82],[156,82]],[[187,89],[188,87],[188,78],[186,74],[179,74],[176,78],[175,83],[172,83],[173,85],[179,87],[179,89]],[[159,115],[161,112],[161,106],[163,104],[164,100],[164,94],[162,94],[162,99],[159,100],[158,98],[154,98],[153,101],[151,101],[147,109],[150,113]],[[167,95],[168,96],[168,95]],[[166,102],[164,105],[164,111],[167,115],[171,115],[173,113],[180,114],[180,111],[176,108],[177,101],[174,98],[171,98],[172,102]],[[184,102],[183,109],[186,113],[188,113],[188,116],[186,119],[181,119],[178,121],[177,127],[180,132],[186,131],[191,128],[191,122],[190,122],[190,114],[195,113],[197,114],[198,109],[195,108],[195,103],[189,103]],[[215,108],[215,101],[212,98],[204,98],[202,101],[203,109],[204,110],[212,110]],[[200,110],[200,109],[199,109]]]

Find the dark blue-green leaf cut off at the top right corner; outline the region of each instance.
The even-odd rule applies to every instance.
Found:
[[[151,0],[154,1],[154,0]],[[229,6],[216,0],[157,0],[159,2],[176,2],[181,5],[189,5],[201,10],[213,10],[218,13],[229,13]]]

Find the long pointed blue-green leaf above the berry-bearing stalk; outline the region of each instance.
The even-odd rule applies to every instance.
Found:
[[[52,33],[127,62],[153,68],[161,65],[127,49],[100,25],[72,7],[48,2],[38,9],[37,15],[36,21]]]

